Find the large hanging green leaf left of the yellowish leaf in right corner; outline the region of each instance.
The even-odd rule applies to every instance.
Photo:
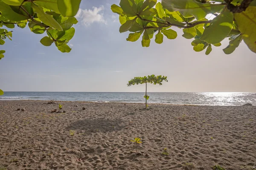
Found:
[[[224,9],[221,14],[215,17],[210,25],[204,29],[201,40],[209,44],[216,44],[224,40],[233,28],[233,13]]]

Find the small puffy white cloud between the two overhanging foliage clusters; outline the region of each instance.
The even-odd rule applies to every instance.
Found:
[[[104,6],[99,8],[94,7],[93,9],[81,9],[79,8],[76,18],[78,18],[84,26],[90,26],[92,23],[104,23],[107,24],[107,21],[103,17]]]

